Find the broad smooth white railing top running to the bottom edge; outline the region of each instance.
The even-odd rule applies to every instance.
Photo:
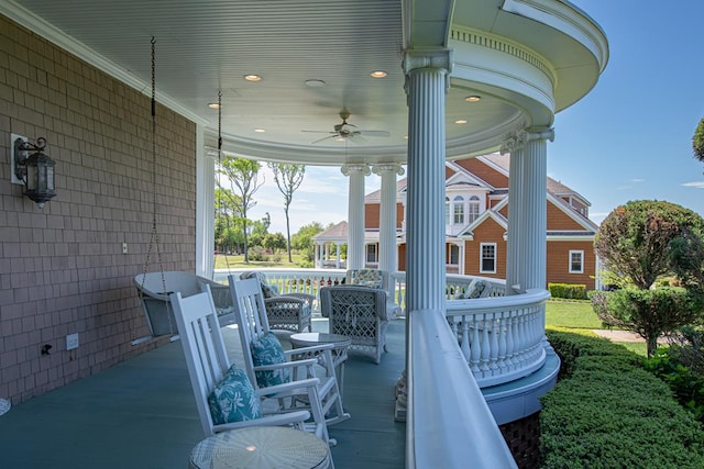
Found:
[[[407,468],[516,468],[441,311],[408,315]]]

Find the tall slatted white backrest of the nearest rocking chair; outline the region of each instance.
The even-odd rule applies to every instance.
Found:
[[[206,436],[213,434],[208,394],[230,368],[230,359],[222,340],[220,323],[210,288],[184,298],[180,292],[169,295],[180,343],[186,356],[190,386],[196,398],[198,416]]]

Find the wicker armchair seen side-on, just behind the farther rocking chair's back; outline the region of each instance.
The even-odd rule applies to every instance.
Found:
[[[262,286],[264,294],[264,306],[268,325],[273,330],[288,332],[311,331],[312,303],[316,297],[308,293],[285,293],[279,294],[275,286],[266,282],[263,272],[243,272],[241,280],[256,278]]]

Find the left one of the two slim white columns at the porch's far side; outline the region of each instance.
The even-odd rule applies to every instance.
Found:
[[[364,268],[364,177],[367,165],[344,165],[342,174],[350,178],[348,204],[348,269]]]

